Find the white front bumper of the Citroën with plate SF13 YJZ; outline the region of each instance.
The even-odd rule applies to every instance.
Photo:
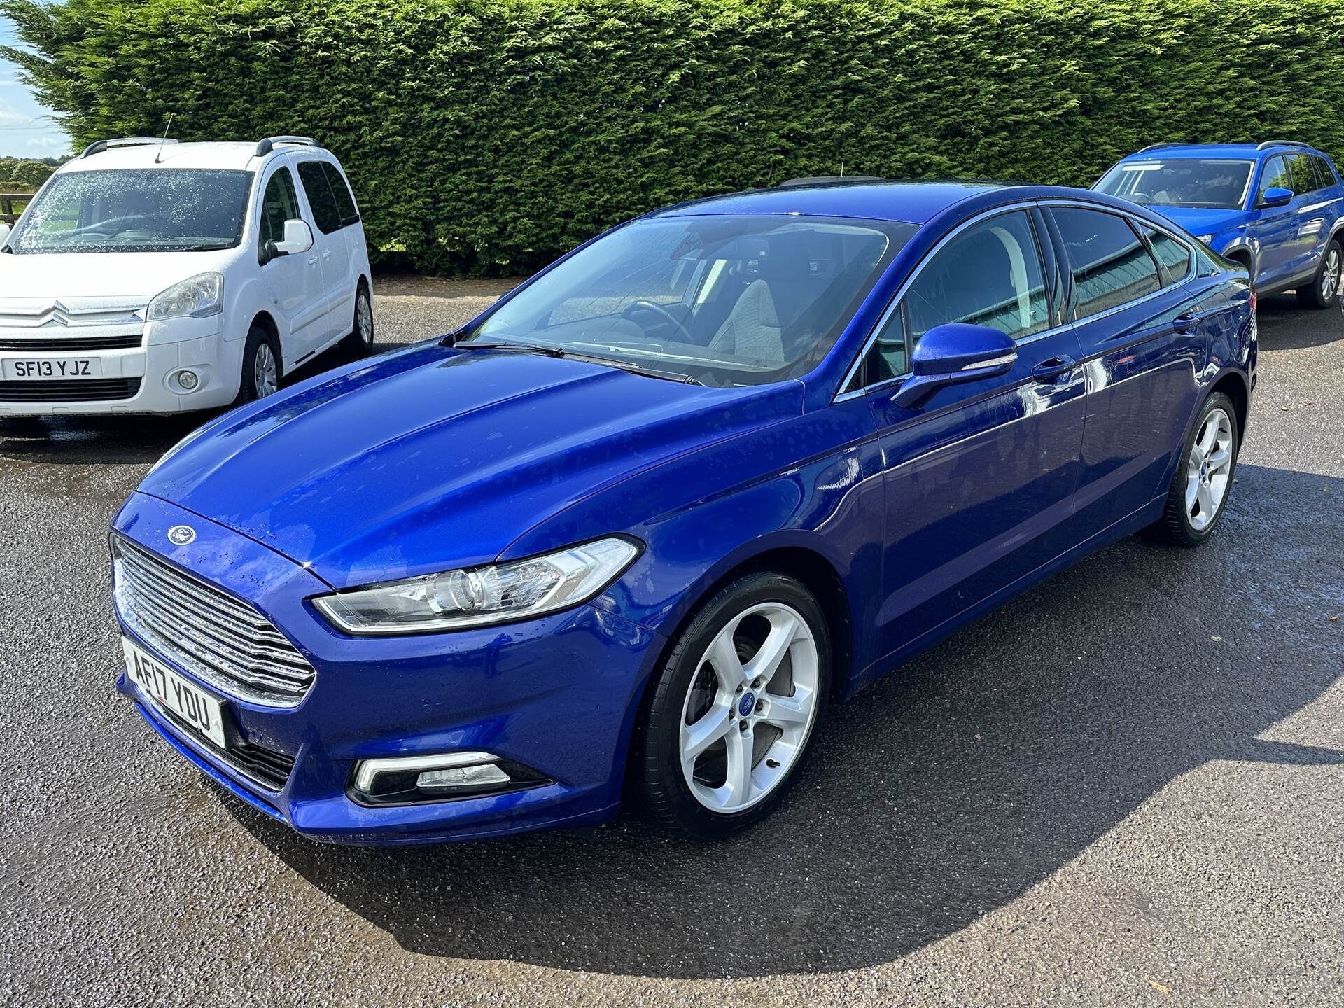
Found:
[[[125,328],[109,328],[108,332],[121,335]],[[101,335],[101,327],[78,327],[69,332],[73,340]],[[223,339],[220,316],[149,323],[144,325],[141,345],[126,349],[54,349],[59,347],[59,339],[43,339],[26,329],[0,328],[0,337],[9,337],[5,348],[0,349],[0,390],[23,388],[32,395],[30,390],[38,384],[5,382],[9,362],[95,359],[99,382],[105,383],[98,387],[105,388],[108,395],[89,399],[87,388],[81,387],[85,383],[78,379],[47,382],[43,383],[40,401],[7,399],[0,391],[0,417],[185,413],[227,406],[238,395],[242,347]],[[15,348],[20,340],[32,340],[34,348]],[[184,392],[172,380],[181,368],[191,368],[200,379],[191,392]],[[118,382],[121,386],[113,387]],[[65,388],[70,391],[63,395]]]

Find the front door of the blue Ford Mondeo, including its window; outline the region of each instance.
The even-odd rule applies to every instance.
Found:
[[[1039,218],[1038,218],[1039,220]],[[1083,433],[1078,340],[1059,325],[1052,250],[1027,210],[946,241],[882,325],[866,380],[886,487],[879,649],[905,649],[1068,548]],[[934,325],[992,325],[1012,371],[892,402],[907,352]]]

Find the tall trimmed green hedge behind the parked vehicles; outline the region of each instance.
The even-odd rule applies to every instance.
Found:
[[[1344,153],[1340,0],[0,0],[79,144],[312,133],[371,243],[513,273],[798,175],[1087,184],[1161,140]]]

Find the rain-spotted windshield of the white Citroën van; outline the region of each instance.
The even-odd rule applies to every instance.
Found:
[[[251,172],[126,168],[51,177],[9,239],[26,253],[204,251],[238,245]]]

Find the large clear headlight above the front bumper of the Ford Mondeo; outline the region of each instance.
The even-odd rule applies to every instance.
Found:
[[[453,570],[313,599],[345,633],[431,633],[530,620],[587,602],[630,566],[640,546],[597,539],[474,570]]]

